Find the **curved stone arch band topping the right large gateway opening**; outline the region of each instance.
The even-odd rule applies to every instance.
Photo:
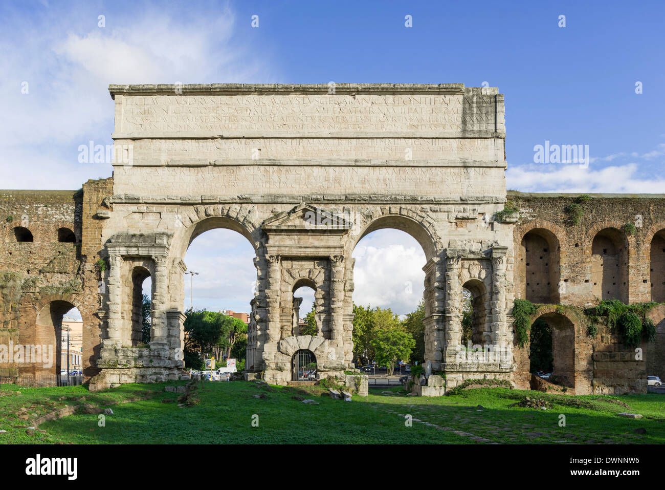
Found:
[[[444,250],[444,244],[436,231],[434,220],[420,210],[416,211],[404,206],[397,209],[390,206],[390,208],[381,208],[372,216],[362,218],[360,222],[354,223],[354,232],[350,235],[350,240],[346,242],[346,255],[349,257],[362,238],[371,232],[384,229],[400,230],[412,236],[420,244],[428,261],[439,256]]]

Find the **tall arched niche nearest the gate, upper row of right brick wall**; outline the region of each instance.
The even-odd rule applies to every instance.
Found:
[[[545,228],[529,230],[519,248],[521,297],[533,303],[559,303],[559,240]]]

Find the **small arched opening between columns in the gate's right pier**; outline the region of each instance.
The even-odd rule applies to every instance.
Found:
[[[487,288],[478,279],[471,279],[462,286],[462,345],[490,346],[491,329],[487,323]]]

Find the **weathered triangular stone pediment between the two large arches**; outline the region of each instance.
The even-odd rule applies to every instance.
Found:
[[[346,232],[353,226],[347,213],[329,211],[305,202],[301,202],[289,211],[275,214],[263,222],[261,228],[266,231],[341,231]]]

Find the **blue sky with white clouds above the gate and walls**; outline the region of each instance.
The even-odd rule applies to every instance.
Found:
[[[109,83],[335,81],[487,82],[505,94],[508,188],[663,192],[663,19],[662,1],[3,1],[0,188],[109,176],[77,161],[79,144],[112,142]],[[589,145],[589,167],[534,163],[546,140]]]

